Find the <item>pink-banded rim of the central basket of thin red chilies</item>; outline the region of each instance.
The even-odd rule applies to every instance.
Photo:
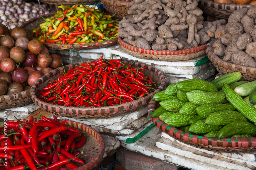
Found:
[[[72,68],[73,66],[75,66],[75,65],[77,65],[77,64],[81,65],[82,63],[85,63],[85,62],[91,63],[91,62],[94,62],[94,61],[96,61],[96,60],[89,60],[89,61],[84,61],[84,62],[78,62],[78,63],[68,64],[68,65],[65,66],[65,68],[68,67],[68,68],[70,69],[70,68]],[[132,62],[132,60],[129,60],[128,62]],[[130,102],[126,102],[126,103],[114,105],[114,106],[112,106],[112,107],[111,107],[111,106],[102,106],[102,107],[94,107],[94,106],[92,106],[92,107],[67,107],[67,106],[61,106],[61,105],[57,105],[57,104],[50,104],[50,103],[47,103],[47,102],[44,102],[44,101],[40,100],[40,99],[36,96],[37,88],[38,88],[45,80],[49,79],[51,76],[56,75],[57,71],[63,70],[63,67],[59,67],[59,68],[57,68],[57,69],[55,69],[55,70],[52,70],[52,71],[50,71],[49,73],[46,73],[45,75],[43,75],[42,77],[40,77],[40,78],[34,83],[34,85],[31,87],[30,95],[31,95],[31,98],[32,98],[33,102],[34,102],[37,106],[42,105],[43,109],[45,109],[45,110],[52,111],[52,109],[54,109],[55,112],[57,112],[57,113],[63,113],[63,114],[66,114],[66,113],[67,113],[67,114],[76,114],[76,115],[78,115],[79,113],[70,113],[70,112],[67,112],[67,111],[70,111],[70,110],[71,110],[71,111],[72,111],[72,110],[75,110],[76,112],[81,111],[81,113],[84,113],[84,114],[86,114],[86,112],[87,112],[87,113],[90,112],[91,115],[98,115],[98,114],[102,114],[100,111],[101,111],[101,110],[104,110],[105,108],[106,108],[106,110],[107,110],[109,113],[115,114],[115,113],[119,112],[119,111],[118,111],[119,107],[124,107],[125,110],[130,110],[130,109],[138,108],[138,102],[141,101],[142,104],[145,105],[145,104],[147,104],[147,103],[146,103],[146,100],[152,99],[153,96],[154,96],[154,94],[158,93],[159,91],[164,90],[165,84],[166,84],[166,79],[165,79],[164,74],[163,74],[160,70],[158,70],[158,69],[156,69],[156,68],[154,68],[154,67],[152,67],[152,66],[150,66],[150,65],[148,65],[148,64],[145,64],[145,63],[142,63],[142,62],[134,62],[134,64],[135,64],[136,66],[138,66],[139,64],[141,64],[141,65],[143,64],[144,66],[147,67],[147,69],[148,69],[149,71],[152,71],[151,69],[154,69],[154,73],[155,73],[156,75],[157,75],[157,71],[158,71],[158,75],[157,75],[157,76],[158,76],[158,77],[160,78],[160,80],[161,80],[161,81],[159,82],[160,85],[158,86],[158,88],[157,88],[154,92],[152,92],[152,93],[150,93],[149,95],[144,96],[144,97],[142,97],[142,98],[140,98],[140,99],[137,99],[137,100],[133,100],[133,101],[130,101]],[[152,71],[152,72],[153,72],[153,71]],[[160,76],[160,75],[161,75],[161,76]],[[40,107],[40,106],[39,106],[39,107]],[[41,107],[40,107],[40,108],[41,108]],[[47,109],[46,109],[46,108],[47,108]],[[50,108],[50,109],[49,109],[49,108]],[[110,108],[114,109],[115,112],[110,112],[110,110],[111,110]],[[97,110],[97,114],[94,113],[95,110]],[[52,112],[53,112],[53,111],[52,111]],[[109,113],[108,113],[108,114],[109,114]]]

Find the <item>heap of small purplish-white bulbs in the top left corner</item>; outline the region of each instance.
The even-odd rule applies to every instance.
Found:
[[[8,29],[19,27],[25,21],[44,14],[49,14],[45,4],[26,3],[22,0],[0,1],[0,24],[4,24]]]

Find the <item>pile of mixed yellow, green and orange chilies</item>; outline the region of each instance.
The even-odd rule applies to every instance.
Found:
[[[46,18],[33,30],[34,39],[46,43],[86,44],[118,37],[118,20],[88,6],[59,6],[57,13]]]

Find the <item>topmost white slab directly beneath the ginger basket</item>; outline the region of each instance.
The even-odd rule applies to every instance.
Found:
[[[56,51],[59,55],[68,55],[69,51],[68,50],[63,50],[63,51]],[[95,53],[99,53],[96,54]],[[125,53],[118,44],[113,45],[107,48],[98,48],[98,49],[88,49],[88,50],[79,50],[79,55],[83,58],[90,58],[90,59],[99,59],[100,55],[104,54],[104,58],[109,59],[111,54],[114,55],[119,55],[121,57],[131,59],[131,60],[137,60],[140,62],[144,62],[147,64],[153,63],[153,64],[158,64],[158,65],[163,65],[163,66],[180,66],[180,67],[187,67],[187,66],[195,66],[196,61],[204,58],[205,56],[197,57],[191,60],[184,60],[184,61],[174,61],[174,62],[169,62],[169,61],[157,61],[157,60],[145,60],[145,59],[140,59],[133,57],[127,53]],[[70,56],[77,56],[75,52],[71,53]],[[119,57],[114,57],[116,59],[120,59]],[[72,59],[71,59],[72,60]]]

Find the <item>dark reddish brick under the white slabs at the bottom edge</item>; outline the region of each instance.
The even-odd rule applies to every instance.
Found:
[[[118,148],[116,151],[116,159],[127,170],[177,170],[179,166],[172,165],[170,163],[151,158],[136,152],[125,150],[124,148]]]

